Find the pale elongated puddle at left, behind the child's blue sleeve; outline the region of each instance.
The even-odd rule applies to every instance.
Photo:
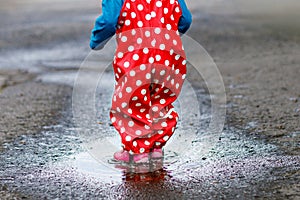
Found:
[[[0,55],[0,69],[44,73],[53,69],[78,68],[80,61],[90,51],[88,46],[80,45],[83,42],[85,41],[80,40],[47,47],[7,50]]]

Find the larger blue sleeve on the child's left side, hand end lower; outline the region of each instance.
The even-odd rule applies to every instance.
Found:
[[[91,49],[102,49],[116,33],[116,27],[124,0],[103,0],[102,14],[96,19],[90,38]]]

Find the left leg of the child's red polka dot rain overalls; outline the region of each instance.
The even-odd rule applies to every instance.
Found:
[[[153,123],[149,113],[150,85],[151,70],[138,66],[121,75],[113,95],[111,121],[121,136],[124,150],[136,154],[150,152],[153,148],[147,140],[152,134]],[[137,138],[146,139],[141,143]]]

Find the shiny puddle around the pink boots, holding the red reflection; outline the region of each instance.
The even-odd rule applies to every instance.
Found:
[[[98,162],[81,147],[76,129],[67,125],[45,127],[38,136],[21,136],[5,146],[0,155],[0,185],[50,199],[159,198],[159,194],[186,199],[228,195],[229,191],[238,197],[245,188],[253,195],[261,189],[256,182],[281,179],[279,172],[299,170],[300,161],[299,157],[280,156],[274,146],[234,129],[227,129],[208,154],[189,152],[189,157],[144,174],[125,174]],[[270,174],[274,170],[278,175]]]

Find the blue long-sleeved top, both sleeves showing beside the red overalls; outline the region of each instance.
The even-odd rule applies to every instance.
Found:
[[[182,10],[178,31],[185,33],[192,23],[192,15],[184,0],[178,0],[178,2]],[[124,0],[102,0],[102,15],[96,19],[91,34],[91,49],[97,50],[103,48],[106,42],[116,33],[117,22],[123,3]]]

